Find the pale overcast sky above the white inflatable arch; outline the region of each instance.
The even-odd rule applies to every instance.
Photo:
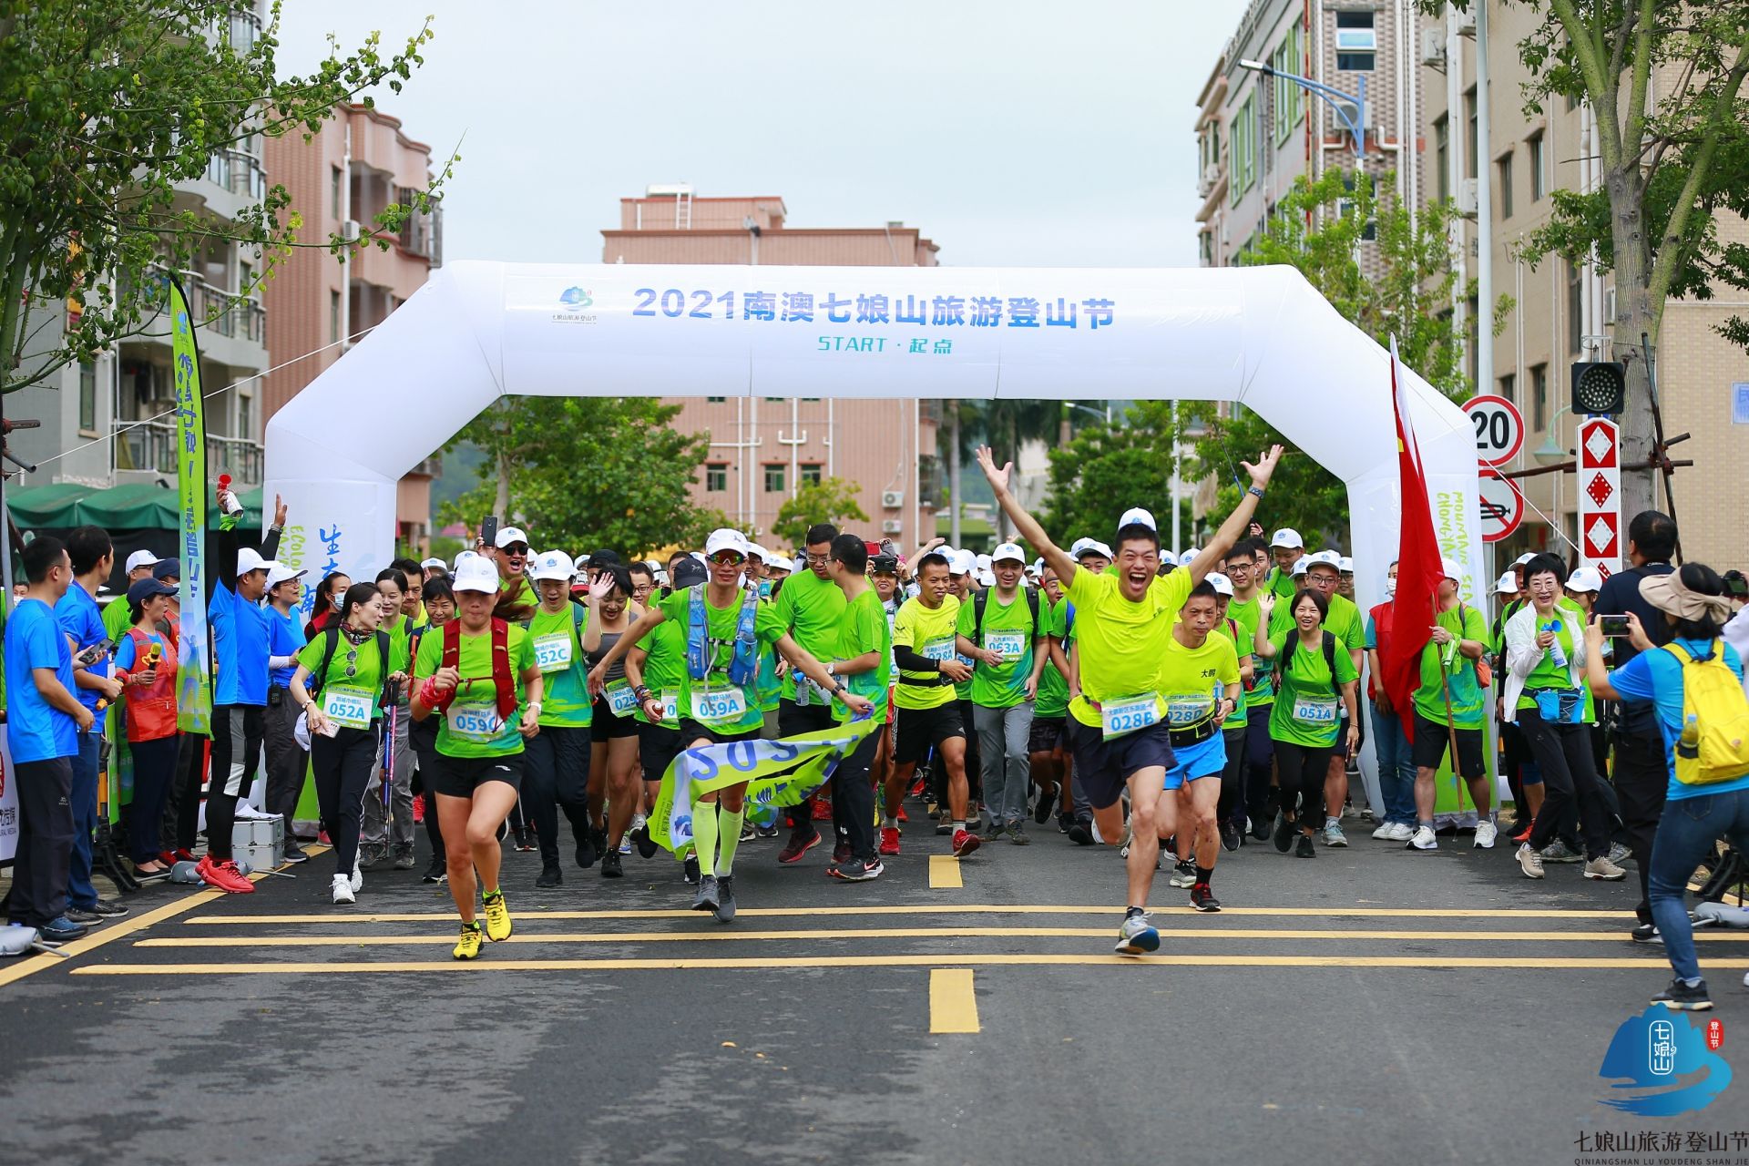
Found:
[[[792,227],[902,220],[943,264],[1193,266],[1195,101],[1244,7],[285,0],[280,68],[434,14],[378,103],[462,142],[446,259],[598,262],[621,198],[691,182]]]

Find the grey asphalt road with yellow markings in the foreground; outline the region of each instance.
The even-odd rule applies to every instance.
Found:
[[[1315,860],[1224,855],[1221,914],[1161,874],[1147,960],[1111,954],[1118,857],[1049,827],[960,865],[911,827],[855,886],[824,848],[778,867],[750,843],[731,927],[679,911],[666,855],[537,892],[507,853],[516,935],[470,965],[418,871],[353,907],[325,857],[247,897],[161,885],[72,960],[0,967],[0,1163],[1522,1166],[1581,1133],[1749,1126],[1742,1082],[1674,1121],[1599,1101],[1616,1026],[1669,981],[1627,942],[1632,881],[1348,827]],[[1728,1061],[1746,940],[1700,947]]]

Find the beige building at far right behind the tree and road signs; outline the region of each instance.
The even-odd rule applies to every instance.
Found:
[[[1592,191],[1599,185],[1595,133],[1588,103],[1555,98],[1539,114],[1525,114],[1518,42],[1543,14],[1534,7],[1488,3],[1488,138],[1490,157],[1478,157],[1474,17],[1424,21],[1422,87],[1424,135],[1429,152],[1431,198],[1450,192],[1469,219],[1462,224],[1464,278],[1476,276],[1478,233],[1474,180],[1487,166],[1494,210],[1494,290],[1511,295],[1515,311],[1494,337],[1492,390],[1509,397],[1525,418],[1525,444],[1513,468],[1536,468],[1536,451],[1569,451],[1578,418],[1569,409],[1572,364],[1581,360],[1639,358],[1639,337],[1614,336],[1614,276],[1590,264],[1560,259],[1532,262],[1520,257],[1525,236],[1551,212],[1550,192]],[[1669,77],[1653,79],[1653,100]],[[1721,241],[1749,243],[1740,220],[1718,224]],[[1735,301],[1735,302],[1733,302]],[[1473,304],[1459,308],[1474,311]],[[1676,516],[1688,558],[1742,566],[1749,558],[1749,507],[1742,502],[1742,467],[1749,463],[1749,404],[1733,413],[1735,388],[1749,383],[1749,357],[1726,343],[1714,325],[1742,313],[1739,297],[1725,290],[1714,301],[1677,301],[1665,308],[1663,336],[1655,355],[1665,434],[1693,434],[1672,449],[1693,458],[1693,468],[1676,472]],[[1474,329],[1471,329],[1474,336]],[[1474,362],[1471,364],[1474,367]],[[1749,392],[1749,390],[1744,390]],[[1546,455],[1543,462],[1560,462]],[[1497,544],[1499,556],[1553,549],[1572,554],[1578,540],[1578,493],[1572,474],[1543,474],[1522,481],[1527,507],[1523,526]],[[1663,489],[1658,505],[1667,509]],[[1623,516],[1623,528],[1627,519]],[[1558,523],[1565,538],[1553,533]]]

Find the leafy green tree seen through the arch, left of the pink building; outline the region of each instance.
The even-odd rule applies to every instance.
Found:
[[[442,523],[477,526],[505,496],[504,519],[528,530],[535,551],[703,545],[721,514],[694,507],[687,488],[710,437],[670,428],[679,413],[647,397],[505,399],[451,441],[470,441],[486,458],[479,484],[442,507]]]

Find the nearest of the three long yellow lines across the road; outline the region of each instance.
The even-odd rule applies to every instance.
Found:
[[[497,954],[497,953],[493,953]],[[329,975],[348,972],[670,972],[694,968],[899,968],[899,967],[1291,967],[1291,968],[1557,968],[1557,970],[1609,970],[1609,968],[1665,968],[1660,958],[1494,958],[1494,956],[1252,956],[1252,954],[1153,954],[1146,960],[1102,954],[892,954],[892,956],[792,956],[792,958],[687,958],[687,960],[394,960],[366,963],[93,963],[72,970],[72,975]],[[1749,960],[1709,960],[1709,968],[1742,970]]]

